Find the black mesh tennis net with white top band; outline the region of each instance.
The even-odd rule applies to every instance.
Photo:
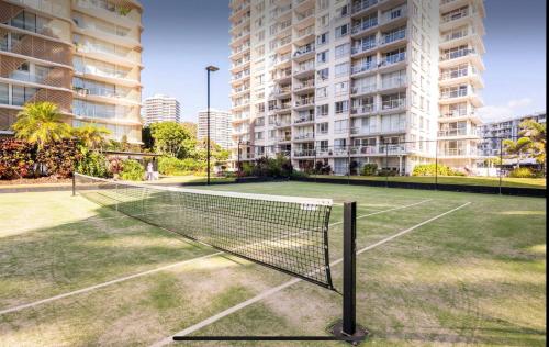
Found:
[[[330,199],[158,187],[80,174],[75,174],[75,189],[100,205],[334,289]]]

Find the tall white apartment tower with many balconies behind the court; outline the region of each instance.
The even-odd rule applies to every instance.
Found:
[[[335,174],[376,163],[403,175],[435,157],[474,165],[482,0],[229,7],[235,157],[280,153]]]

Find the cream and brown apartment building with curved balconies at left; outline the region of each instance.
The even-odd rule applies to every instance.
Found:
[[[141,143],[137,0],[0,0],[0,133],[26,102]]]

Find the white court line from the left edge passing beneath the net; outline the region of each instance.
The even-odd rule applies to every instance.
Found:
[[[419,201],[419,202],[416,202],[416,203],[413,203],[413,204],[410,204],[410,205],[404,205],[404,206],[393,208],[393,209],[389,209],[389,210],[372,212],[372,213],[369,213],[369,214],[360,215],[358,217],[362,219],[362,217],[366,217],[366,216],[369,216],[369,215],[374,215],[374,214],[380,214],[380,213],[384,213],[384,212],[391,212],[391,211],[395,211],[395,210],[406,209],[406,208],[411,208],[413,205],[425,203],[427,201],[429,201],[429,200]],[[124,215],[124,216],[126,216],[126,215]],[[343,222],[336,222],[336,223],[329,224],[329,226],[334,226],[334,225],[341,224],[341,223]],[[157,227],[160,228],[160,230],[173,233],[173,232],[171,232],[171,231],[169,231],[167,228],[164,228],[164,227],[160,227],[160,226],[157,226]],[[179,235],[179,234],[177,234],[177,235]],[[197,243],[199,243],[201,245],[209,246],[209,245],[200,243],[200,242],[197,242]],[[96,286],[82,288],[82,289],[79,289],[79,290],[76,290],[76,291],[72,291],[72,292],[68,292],[68,293],[65,293],[65,294],[59,294],[59,295],[56,295],[56,296],[47,298],[47,299],[44,299],[44,300],[38,300],[38,301],[31,302],[31,303],[27,303],[27,304],[22,304],[22,305],[19,305],[19,306],[14,306],[14,307],[1,310],[0,311],[0,315],[5,314],[5,313],[10,313],[10,312],[20,311],[20,310],[23,310],[23,309],[33,307],[33,306],[36,306],[36,305],[40,305],[40,304],[43,304],[43,303],[48,303],[48,302],[56,301],[56,300],[59,300],[59,299],[64,299],[64,298],[67,298],[67,296],[72,296],[72,295],[86,293],[86,292],[89,292],[89,291],[92,291],[92,290],[96,290],[96,289],[104,288],[107,286],[120,283],[120,282],[126,281],[126,280],[131,280],[131,279],[134,279],[134,278],[143,277],[143,276],[146,276],[146,275],[150,275],[150,273],[164,271],[164,270],[177,267],[177,266],[189,264],[191,261],[202,260],[202,259],[206,259],[206,258],[210,258],[210,257],[213,257],[213,256],[219,256],[219,255],[222,255],[222,254],[224,254],[224,251],[217,251],[217,253],[214,253],[214,254],[211,254],[211,255],[206,255],[206,256],[202,256],[202,257],[198,257],[198,258],[192,258],[192,259],[179,261],[179,262],[176,262],[176,264],[171,264],[171,265],[168,265],[168,266],[159,267],[159,268],[152,269],[152,270],[148,270],[148,271],[144,271],[144,272],[139,272],[139,273],[134,273],[134,275],[122,277],[122,278],[119,278],[119,279],[115,279],[115,280],[111,280],[111,281],[108,281],[108,282],[103,282],[103,283],[99,283],[99,284],[96,284]]]

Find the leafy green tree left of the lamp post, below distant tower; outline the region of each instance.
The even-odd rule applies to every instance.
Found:
[[[155,150],[176,158],[186,158],[192,149],[189,132],[176,122],[153,123],[150,135],[155,142]]]

